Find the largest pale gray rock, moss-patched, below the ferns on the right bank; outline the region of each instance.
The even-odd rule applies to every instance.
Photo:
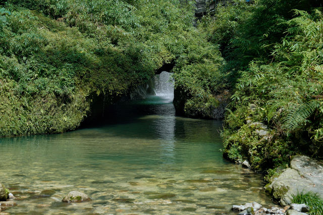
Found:
[[[285,169],[265,188],[283,206],[290,205],[292,195],[301,191],[317,193],[323,198],[323,168],[307,156],[295,156],[291,160],[291,168]]]

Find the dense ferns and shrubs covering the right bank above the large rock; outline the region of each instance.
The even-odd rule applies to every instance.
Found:
[[[232,101],[224,154],[255,169],[323,154],[323,14],[319,1],[220,7],[201,26],[219,44]],[[266,128],[267,127],[267,128]]]

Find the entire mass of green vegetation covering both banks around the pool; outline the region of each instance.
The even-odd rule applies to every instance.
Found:
[[[231,90],[229,159],[261,169],[298,152],[321,157],[320,1],[236,1],[197,27],[192,4],[181,2],[2,3],[0,136],[75,129],[93,100],[104,111],[171,65],[178,113],[212,118]]]

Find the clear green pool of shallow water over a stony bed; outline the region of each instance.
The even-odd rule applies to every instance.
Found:
[[[220,121],[175,117],[171,99],[151,96],[116,106],[109,122],[0,139],[1,182],[18,197],[6,212],[228,214],[232,204],[272,206],[261,175],[223,159]],[[62,203],[72,190],[92,201]]]

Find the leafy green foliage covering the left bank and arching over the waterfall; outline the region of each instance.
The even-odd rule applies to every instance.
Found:
[[[165,64],[182,74],[181,86],[188,76],[220,77],[220,52],[193,27],[190,4],[9,0],[2,7],[0,136],[75,129],[93,100],[104,109]],[[198,86],[185,90],[198,96]],[[212,86],[205,81],[203,95]]]

